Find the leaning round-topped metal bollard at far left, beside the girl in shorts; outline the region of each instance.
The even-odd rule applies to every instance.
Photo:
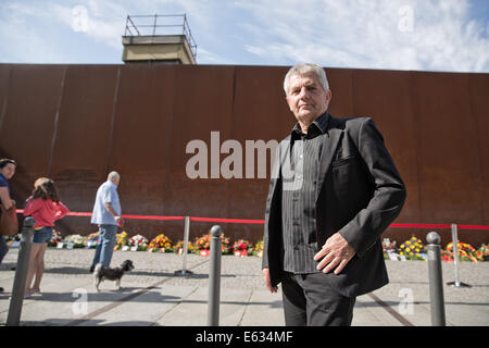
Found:
[[[22,303],[24,302],[25,282],[29,268],[30,249],[33,247],[34,224],[36,220],[28,216],[24,220],[21,233],[21,247],[18,250],[12,297],[10,300],[7,326],[18,326],[21,322]]]

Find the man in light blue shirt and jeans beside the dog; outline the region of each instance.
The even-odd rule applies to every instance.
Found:
[[[109,268],[115,246],[117,226],[122,224],[121,202],[118,200],[117,186],[121,175],[117,172],[109,173],[106,182],[100,185],[91,214],[91,223],[99,226],[100,237],[96,248],[90,272],[93,272],[97,263]]]

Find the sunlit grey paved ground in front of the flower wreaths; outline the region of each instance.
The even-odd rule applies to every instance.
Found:
[[[0,325],[5,325],[18,249],[0,265]],[[136,269],[122,281],[103,282],[97,293],[88,272],[93,250],[48,249],[41,294],[24,300],[21,325],[205,326],[209,258],[189,254],[192,274],[175,275],[183,257],[173,253],[114,252]],[[220,325],[283,326],[281,294],[262,284],[261,260],[223,256]],[[353,326],[430,325],[427,262],[387,261],[390,284],[358,297]],[[443,283],[453,281],[453,263],[442,263]],[[471,288],[443,287],[447,325],[489,325],[489,262],[462,262],[461,281]]]

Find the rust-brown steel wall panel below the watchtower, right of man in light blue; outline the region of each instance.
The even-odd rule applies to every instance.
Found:
[[[120,194],[125,213],[168,213],[166,188],[174,98],[172,66],[121,67],[109,171],[116,170],[122,176]],[[134,234],[163,232],[163,226],[161,221],[126,220],[126,229]]]

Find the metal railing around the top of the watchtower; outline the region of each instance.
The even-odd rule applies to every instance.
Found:
[[[127,15],[124,36],[160,35],[184,35],[193,58],[197,57],[197,44],[188,25],[186,14]]]

